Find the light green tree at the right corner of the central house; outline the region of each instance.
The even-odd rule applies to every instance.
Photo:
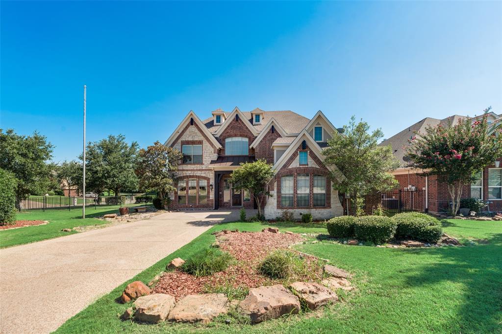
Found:
[[[334,134],[324,149],[325,164],[333,166],[333,188],[350,195],[354,212],[360,212],[361,196],[372,191],[395,188],[398,181],[389,172],[399,167],[391,146],[378,146],[384,136],[381,129],[369,132],[362,120],[356,123],[352,116],[343,127],[342,135]],[[359,204],[358,204],[359,202]]]

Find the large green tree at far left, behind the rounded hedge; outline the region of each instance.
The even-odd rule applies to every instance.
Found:
[[[0,168],[14,174],[17,180],[17,199],[29,194],[44,193],[51,184],[52,144],[45,136],[34,132],[31,136],[18,135],[14,130],[0,129]]]

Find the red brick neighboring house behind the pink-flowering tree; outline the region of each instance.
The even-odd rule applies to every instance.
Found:
[[[487,115],[489,134],[495,133],[495,131],[502,126],[501,117],[502,115],[497,115],[495,113],[489,113]],[[481,116],[475,118],[479,119]],[[451,198],[448,193],[447,185],[443,180],[438,179],[437,176],[421,176],[422,170],[407,167],[407,163],[403,160],[406,155],[404,147],[409,144],[408,140],[415,136],[415,132],[424,133],[427,126],[449,126],[450,124],[456,124],[459,120],[464,119],[468,119],[468,117],[454,115],[443,120],[428,117],[391,138],[384,140],[380,144],[391,145],[394,156],[401,163],[401,167],[393,172],[394,176],[399,181],[400,189],[417,189],[425,191],[424,206],[427,211],[437,213],[448,209]],[[502,158],[493,157],[493,163],[479,172],[478,181],[464,187],[462,198],[479,198],[490,202],[490,211],[502,210],[502,168],[500,168],[502,166],[500,166],[500,161],[502,161]],[[484,210],[487,210],[487,207],[485,207]]]

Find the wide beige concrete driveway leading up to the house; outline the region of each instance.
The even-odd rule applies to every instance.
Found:
[[[235,211],[186,211],[0,250],[0,333],[49,333]]]

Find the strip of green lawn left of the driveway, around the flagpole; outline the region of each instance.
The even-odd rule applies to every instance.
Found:
[[[95,219],[93,217],[102,216],[105,213],[118,212],[118,209],[89,209],[85,212],[86,214],[84,220],[82,220],[82,209],[71,211],[37,211],[17,213],[16,220],[48,220],[49,223],[40,226],[0,230],[0,248],[12,247],[78,233],[75,231],[62,232],[61,230],[63,228],[73,228],[76,226],[104,224],[106,221]]]

